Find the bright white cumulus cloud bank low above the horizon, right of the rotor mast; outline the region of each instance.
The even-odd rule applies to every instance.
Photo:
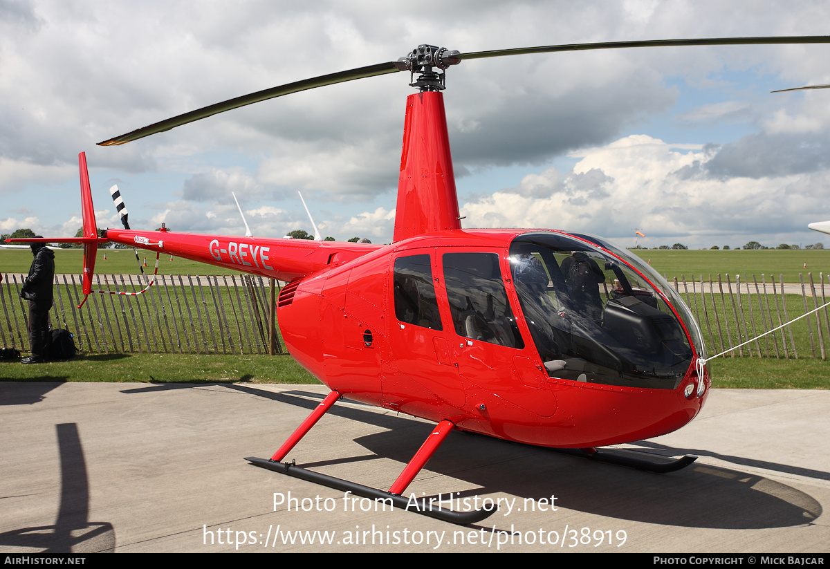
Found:
[[[830,181],[830,173],[816,173],[811,182],[798,176],[721,179],[706,173],[714,153],[673,151],[645,135],[579,156],[569,173],[548,168],[525,177],[518,188],[465,203],[466,225],[585,231],[623,245],[635,227],[647,235],[641,245],[649,246],[672,240],[710,246],[718,234],[763,241],[769,233],[801,231],[823,208],[821,188]],[[685,175],[692,166],[699,173]],[[579,179],[588,174],[593,178]]]

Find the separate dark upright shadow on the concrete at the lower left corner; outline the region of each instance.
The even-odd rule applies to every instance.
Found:
[[[43,553],[115,551],[111,523],[89,522],[90,489],[86,461],[76,423],[56,425],[61,456],[61,498],[54,525],[0,533],[0,545],[31,547]]]

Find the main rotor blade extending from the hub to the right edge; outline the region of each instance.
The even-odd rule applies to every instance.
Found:
[[[798,43],[830,43],[830,36],[784,36],[784,37],[704,37],[686,40],[646,41],[602,41],[599,43],[569,43],[561,46],[517,47],[509,50],[474,51],[461,53],[458,59],[481,59],[484,57],[520,56],[528,53],[551,53],[554,51],[611,50],[624,47],[671,47],[671,46],[758,46]]]

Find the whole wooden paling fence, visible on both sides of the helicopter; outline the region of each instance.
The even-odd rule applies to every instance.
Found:
[[[28,350],[27,304],[20,299],[22,275],[3,275],[0,283],[0,342]],[[159,275],[156,285],[138,297],[90,294],[82,309],[81,278],[57,275],[53,328],[75,334],[87,353],[268,353],[268,283],[251,275]],[[96,288],[135,292],[138,277],[95,275]],[[800,284],[784,284],[782,275],[756,278],[684,275],[676,291],[696,315],[708,354],[725,357],[821,357],[830,351],[828,309],[736,348],[827,302],[824,276],[812,273]],[[828,280],[830,286],[830,280]],[[57,322],[56,322],[57,319]],[[278,352],[281,344],[276,343]]]

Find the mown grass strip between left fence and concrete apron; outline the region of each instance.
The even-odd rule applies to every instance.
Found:
[[[291,356],[81,354],[68,362],[0,362],[4,382],[320,383]]]

